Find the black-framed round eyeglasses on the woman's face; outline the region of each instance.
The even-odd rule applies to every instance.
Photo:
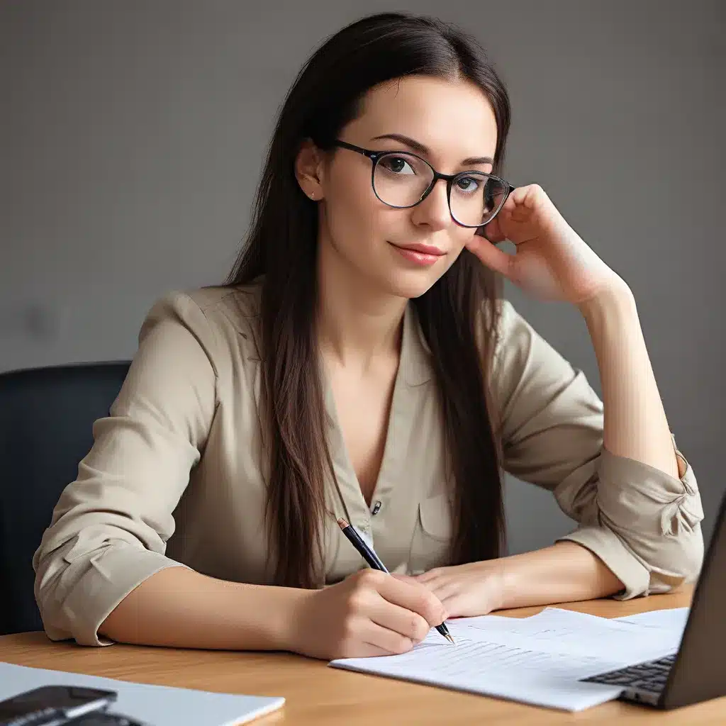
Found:
[[[415,207],[431,194],[439,179],[444,179],[449,212],[460,227],[489,224],[515,189],[499,176],[484,171],[440,174],[428,161],[407,151],[372,151],[340,139],[333,146],[357,152],[372,161],[373,192],[389,207]]]

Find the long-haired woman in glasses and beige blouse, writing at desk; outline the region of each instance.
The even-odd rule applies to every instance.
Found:
[[[633,296],[540,187],[500,179],[509,124],[484,52],[437,20],[368,17],[311,57],[229,280],[153,307],[54,510],[50,637],[372,656],[696,576],[701,502]],[[603,403],[502,276],[582,312]],[[577,529],[502,557],[502,470]]]

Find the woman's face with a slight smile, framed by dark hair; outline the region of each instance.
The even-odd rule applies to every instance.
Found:
[[[392,134],[398,138],[386,138]],[[473,84],[412,76],[369,91],[364,112],[338,139],[375,151],[413,152],[443,174],[491,172],[497,123]],[[465,163],[472,158],[489,161]],[[422,203],[399,209],[375,195],[370,159],[340,148],[319,159],[317,180],[310,184],[300,174],[298,179],[304,192],[322,199],[319,245],[327,245],[321,251],[333,255],[338,274],[347,269],[373,290],[416,298],[449,269],[475,232],[452,219],[443,179]],[[401,184],[415,184],[415,173],[404,159],[392,158],[388,176],[377,179],[397,193]],[[416,245],[426,245],[433,254],[411,250]]]

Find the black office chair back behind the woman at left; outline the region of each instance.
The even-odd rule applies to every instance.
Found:
[[[0,373],[0,635],[41,630],[33,553],[129,362]]]

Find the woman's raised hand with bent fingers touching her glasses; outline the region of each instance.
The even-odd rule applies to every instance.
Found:
[[[580,305],[605,290],[625,286],[537,184],[515,189],[484,234],[473,235],[467,248],[538,298]],[[514,255],[494,247],[504,240],[514,243]]]

